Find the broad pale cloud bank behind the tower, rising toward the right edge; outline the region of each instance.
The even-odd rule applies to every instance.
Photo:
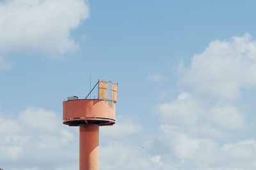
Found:
[[[246,135],[252,131],[251,115],[236,104],[244,88],[256,86],[255,51],[248,33],[212,41],[180,69],[178,85],[184,90],[157,105],[161,125],[156,131],[143,134],[140,120],[127,116],[100,129],[100,168],[256,169],[256,140]],[[78,136],[78,129],[62,125],[54,111],[29,107],[14,118],[0,113],[0,152],[5,153],[0,165],[77,169]]]

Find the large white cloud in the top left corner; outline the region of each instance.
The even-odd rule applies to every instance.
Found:
[[[0,52],[73,50],[77,45],[70,31],[88,18],[88,12],[83,0],[0,1]]]

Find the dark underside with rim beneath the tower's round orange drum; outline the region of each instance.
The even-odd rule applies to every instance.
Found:
[[[63,120],[63,124],[69,126],[79,126],[79,125],[86,125],[86,124],[94,124],[94,125],[113,125],[115,124],[115,120],[111,118],[99,118],[99,117],[92,117],[92,118],[67,118]]]

